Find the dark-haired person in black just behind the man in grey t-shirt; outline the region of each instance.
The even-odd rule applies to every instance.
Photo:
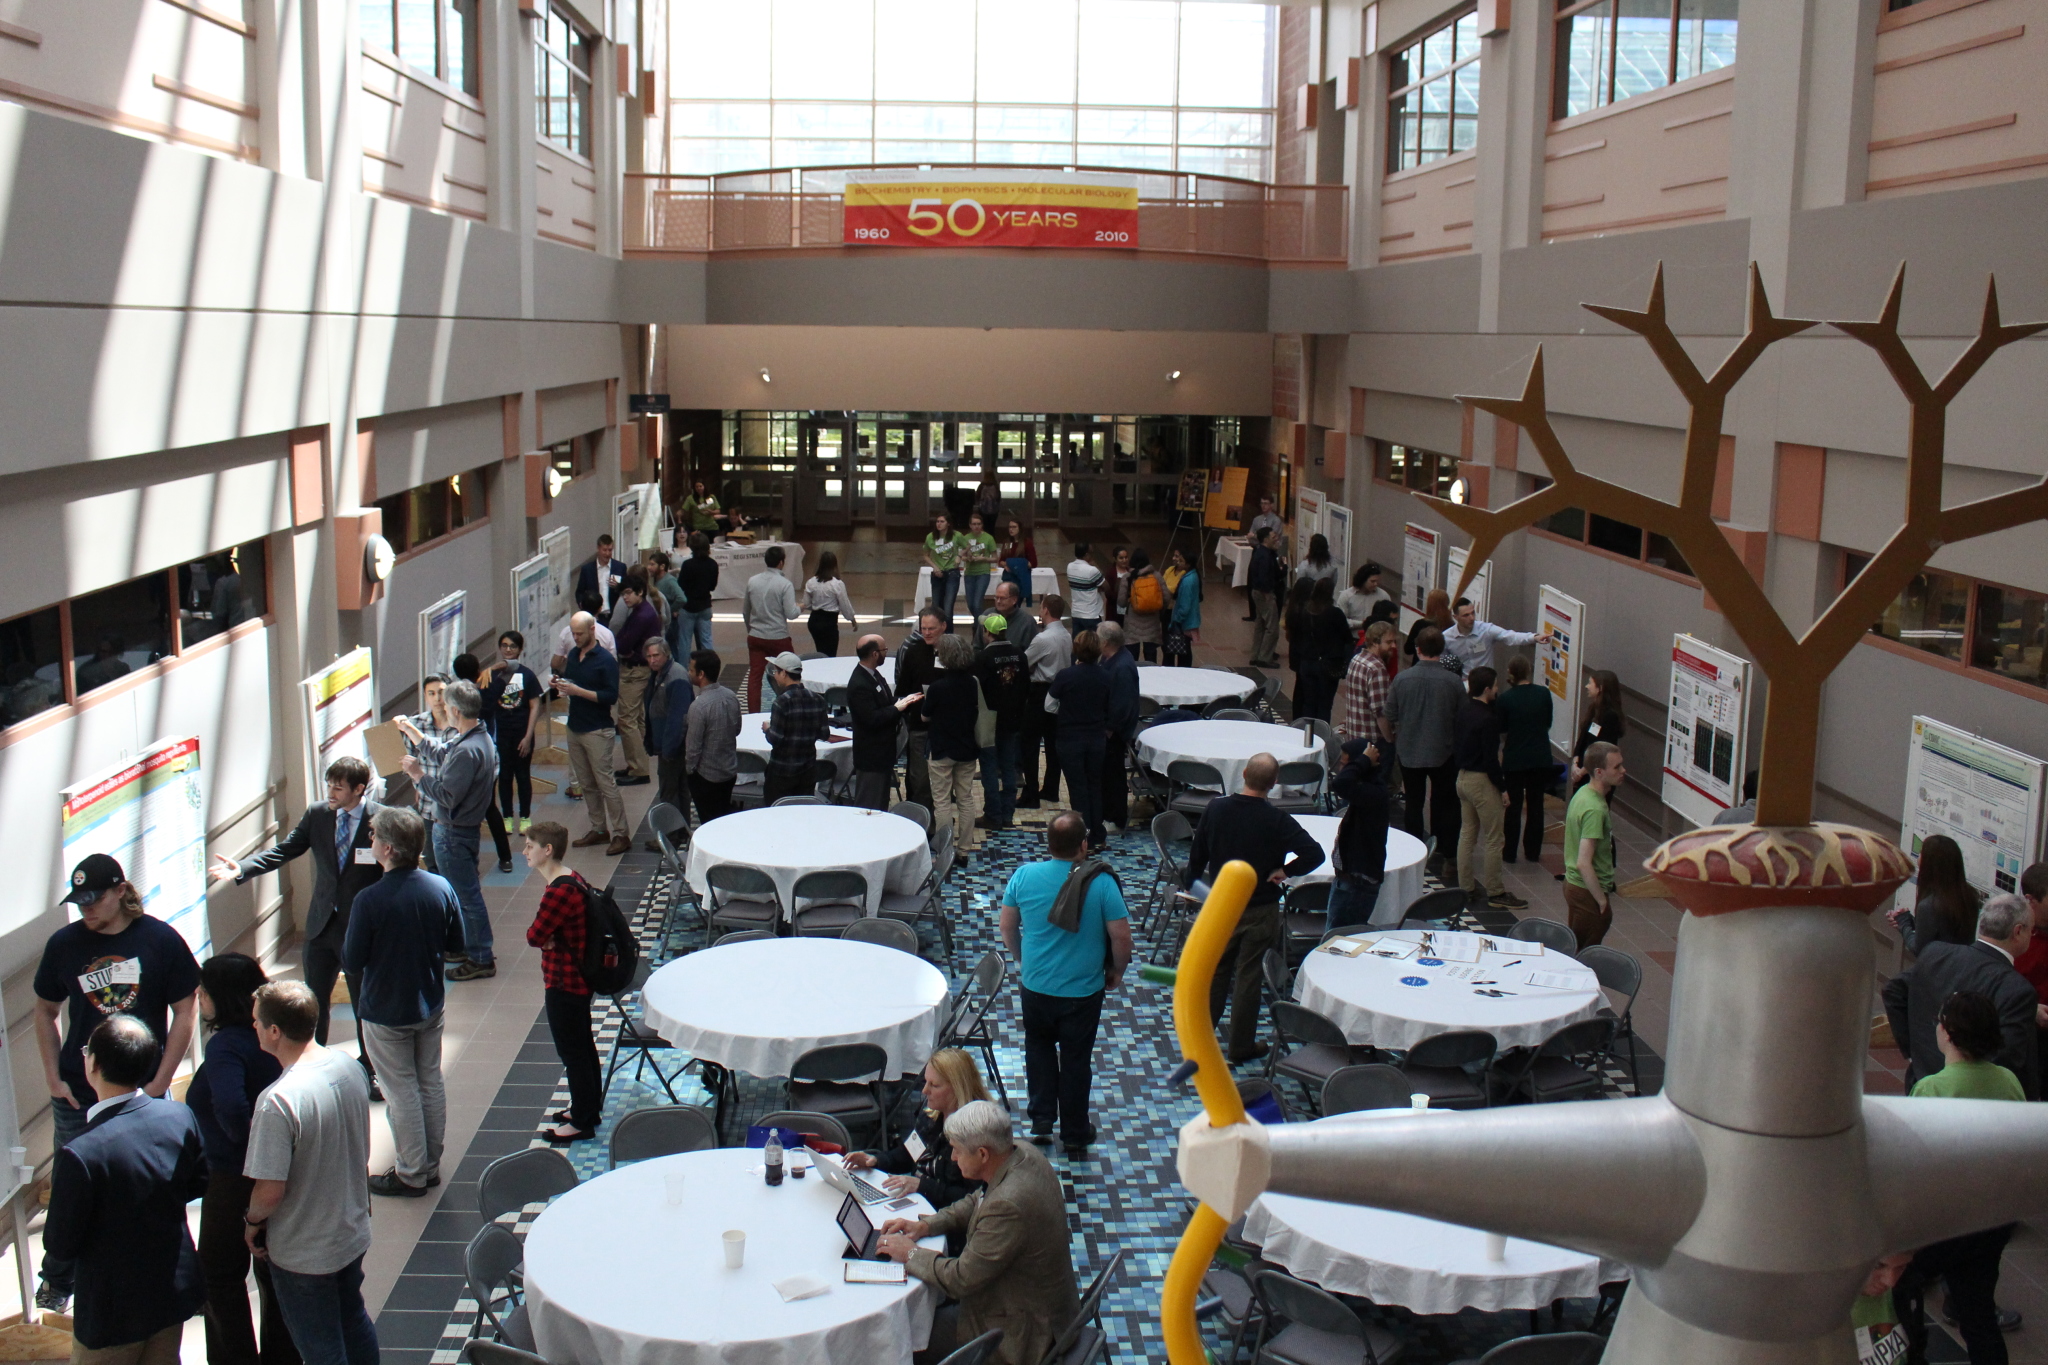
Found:
[[[207,1365],[295,1365],[299,1349],[276,1310],[270,1263],[256,1261],[262,1302],[262,1349],[250,1322],[250,1248],[242,1220],[254,1181],[242,1175],[250,1117],[285,1068],[256,1042],[256,988],[268,980],[254,958],[217,954],[199,968],[199,1013],[207,1021],[207,1054],[184,1103],[199,1119],[207,1150],[207,1197],[199,1205],[199,1265],[207,1281]]]

